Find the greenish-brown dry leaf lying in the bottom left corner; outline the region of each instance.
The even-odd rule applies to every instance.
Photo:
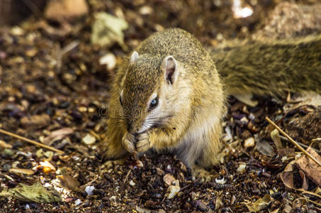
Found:
[[[33,185],[19,183],[17,187],[0,192],[2,197],[14,197],[24,202],[60,202],[61,197],[57,191],[46,189],[40,182]]]

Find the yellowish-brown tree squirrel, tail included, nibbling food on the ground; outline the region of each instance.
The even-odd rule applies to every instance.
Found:
[[[320,35],[209,53],[179,28],[154,33],[120,66],[113,82],[106,155],[171,151],[194,175],[208,175],[203,168],[218,163],[223,147],[227,94],[285,90],[321,92]]]

